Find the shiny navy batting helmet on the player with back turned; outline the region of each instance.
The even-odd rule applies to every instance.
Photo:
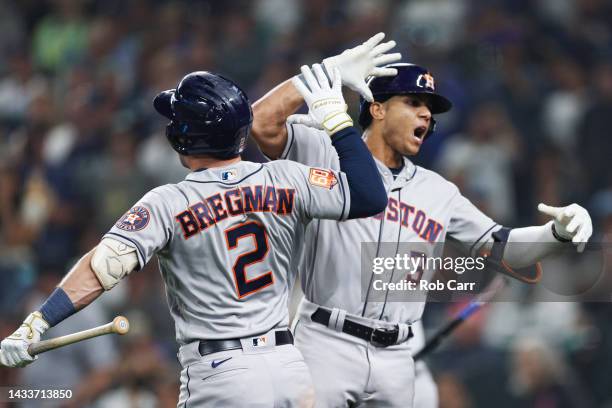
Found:
[[[192,72],[176,89],[157,95],[153,105],[170,119],[166,136],[180,154],[228,159],[246,146],[253,122],[251,104],[242,89],[221,75]]]

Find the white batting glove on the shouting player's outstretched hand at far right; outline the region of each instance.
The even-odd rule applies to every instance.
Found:
[[[554,219],[556,234],[578,246],[578,252],[584,251],[586,243],[593,234],[593,224],[589,212],[578,204],[567,207],[551,207],[538,204],[538,210]]]

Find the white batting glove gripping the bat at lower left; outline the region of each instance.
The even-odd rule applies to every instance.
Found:
[[[7,367],[25,367],[38,357],[28,353],[32,343],[40,341],[40,336],[47,331],[49,323],[40,312],[30,313],[21,326],[0,343],[0,364]]]

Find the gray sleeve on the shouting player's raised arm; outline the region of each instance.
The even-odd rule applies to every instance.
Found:
[[[305,125],[287,124],[287,144],[280,159],[307,166],[339,169],[331,138],[322,130]]]

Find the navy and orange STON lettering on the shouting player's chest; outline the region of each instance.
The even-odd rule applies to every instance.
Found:
[[[436,242],[444,229],[442,224],[429,218],[423,210],[392,197],[389,197],[387,210],[373,218],[380,220],[385,214],[388,221],[400,222],[402,227],[411,228],[421,239],[428,242]]]

